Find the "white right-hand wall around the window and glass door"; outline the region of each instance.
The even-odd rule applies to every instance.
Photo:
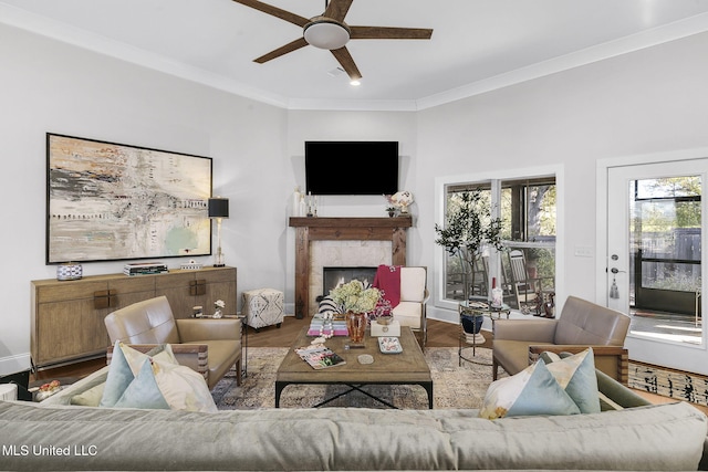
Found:
[[[701,34],[419,112],[418,175],[561,166],[559,256],[565,265],[559,282],[565,296],[595,300],[595,259],[575,256],[574,248],[596,245],[596,161],[706,146],[706,53],[708,34]],[[415,188],[418,228],[429,232],[431,182]],[[425,247],[423,263],[434,265],[434,250]]]

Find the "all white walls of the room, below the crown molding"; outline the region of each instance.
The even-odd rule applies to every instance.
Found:
[[[239,292],[284,290],[290,306],[287,218],[294,186],[304,186],[304,140],[400,141],[402,188],[416,199],[408,261],[430,269],[429,284],[436,177],[556,166],[565,186],[565,293],[593,300],[595,260],[575,258],[573,248],[595,247],[596,160],[708,146],[707,54],[700,34],[417,113],[288,112],[0,25],[0,211],[12,268],[0,275],[0,374],[29,361],[30,280],[55,275],[44,265],[46,132],[212,157],[215,193],[231,199],[223,245]],[[331,197],[321,214],[378,216],[383,203]]]

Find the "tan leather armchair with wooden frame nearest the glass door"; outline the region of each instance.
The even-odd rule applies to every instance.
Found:
[[[492,377],[498,368],[509,375],[523,370],[544,350],[579,353],[591,346],[595,367],[627,384],[627,350],[623,347],[629,329],[624,313],[569,296],[556,319],[497,319],[493,325]]]

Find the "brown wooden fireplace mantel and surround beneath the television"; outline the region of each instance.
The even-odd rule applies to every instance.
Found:
[[[295,317],[302,319],[310,300],[311,241],[391,241],[392,264],[406,265],[406,229],[410,217],[291,218],[295,233]]]

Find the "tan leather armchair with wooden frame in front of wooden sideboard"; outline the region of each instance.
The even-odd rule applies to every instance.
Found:
[[[121,340],[142,352],[171,344],[177,361],[202,374],[210,389],[233,365],[241,384],[240,319],[175,319],[167,297],[158,296],[115,311],[104,322],[111,343]]]

